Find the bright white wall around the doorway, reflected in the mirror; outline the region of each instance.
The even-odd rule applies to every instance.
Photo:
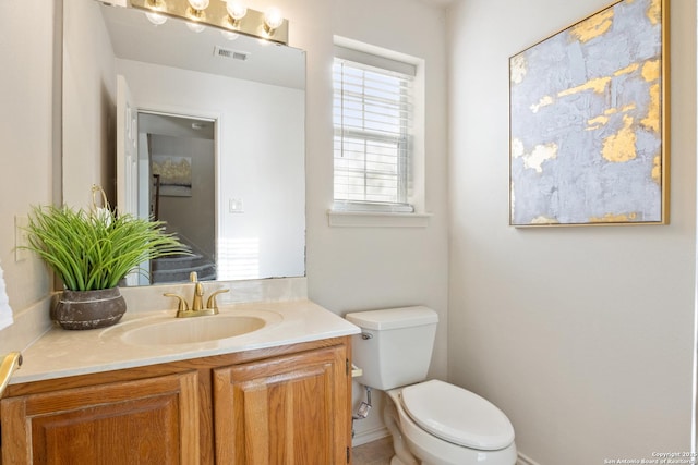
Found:
[[[140,109],[218,120],[218,252],[256,243],[253,278],[303,276],[303,91],[131,60],[117,69]],[[232,198],[244,213],[229,211]]]

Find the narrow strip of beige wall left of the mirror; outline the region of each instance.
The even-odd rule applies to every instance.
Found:
[[[60,57],[52,42],[55,5],[0,3],[0,266],[15,320],[29,307],[48,308],[50,292],[44,265],[34,258],[15,262],[13,247],[15,216],[52,199],[52,100],[60,95],[60,83],[56,88],[52,82],[53,59]],[[8,344],[26,342],[0,334],[0,351],[23,348]]]

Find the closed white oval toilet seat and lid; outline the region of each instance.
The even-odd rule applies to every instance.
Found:
[[[504,449],[514,442],[514,428],[506,415],[465,389],[430,380],[404,388],[400,397],[414,423],[445,441],[481,451]]]

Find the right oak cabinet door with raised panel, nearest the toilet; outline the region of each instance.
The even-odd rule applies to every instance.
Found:
[[[216,369],[216,462],[346,464],[348,380],[344,345]]]

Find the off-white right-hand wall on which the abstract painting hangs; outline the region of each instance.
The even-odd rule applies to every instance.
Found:
[[[452,381],[544,464],[690,446],[696,3],[672,2],[671,224],[508,223],[508,57],[606,0],[456,2],[449,30]]]

